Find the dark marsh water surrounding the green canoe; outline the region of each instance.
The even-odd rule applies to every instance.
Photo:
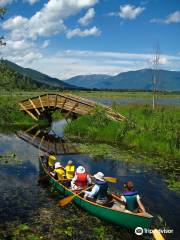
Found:
[[[30,234],[36,232],[42,234],[42,236],[38,235],[40,238],[34,239],[55,239],[55,231],[60,231],[58,229],[61,223],[69,228],[70,218],[73,214],[75,218],[89,219],[87,213],[72,204],[63,209],[57,207],[57,195],[54,194],[53,190],[38,184],[38,155],[45,151],[46,146],[53,148],[54,142],[62,141],[65,124],[64,120],[54,122],[50,128],[43,129],[41,134],[36,129],[30,131],[23,129],[18,133],[11,134],[0,133],[0,155],[3,156],[0,158],[0,239],[13,239],[13,234],[17,233],[17,226],[22,223],[36,229],[32,230]],[[40,146],[43,135],[46,135],[43,138],[44,148],[43,144]],[[52,139],[54,140],[52,141]],[[166,235],[166,239],[180,239],[180,193],[169,190],[161,174],[156,173],[145,164],[136,163],[136,161],[132,164],[121,159],[118,161],[108,158],[93,159],[88,155],[76,152],[76,146],[71,147],[71,144],[73,145],[73,143],[63,142],[62,148],[56,144],[56,148],[58,148],[56,150],[61,152],[58,153],[57,157],[63,165],[71,159],[75,166],[83,165],[91,174],[102,171],[106,176],[117,177],[119,182],[110,184],[110,189],[113,192],[120,192],[124,181],[134,181],[147,210],[159,219],[162,226],[174,230],[173,234]],[[64,218],[67,219],[68,225],[63,222]],[[94,225],[91,222],[89,226],[96,229],[97,223],[95,220],[93,221]],[[108,228],[108,223],[98,221],[98,224],[104,226],[105,229]],[[88,226],[84,226],[83,223],[78,227],[79,232],[86,232],[85,229],[88,229]],[[121,239],[120,235],[118,238],[119,229],[121,228],[112,226],[111,231],[116,232],[116,235],[112,233],[109,235],[109,239]],[[71,235],[69,232],[65,232],[65,234],[67,237],[68,234]],[[83,239],[83,237],[73,235],[73,237],[69,236],[68,239]],[[95,238],[86,236],[86,239]],[[130,235],[124,238],[124,240],[126,239],[135,238]]]

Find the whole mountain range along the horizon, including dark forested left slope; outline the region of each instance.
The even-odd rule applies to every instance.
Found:
[[[180,72],[152,69],[142,69],[119,73],[116,76],[105,74],[79,75],[67,80],[52,78],[30,68],[23,68],[7,60],[1,60],[0,66],[5,70],[0,72],[0,85],[8,82],[8,86],[23,86],[22,89],[63,88],[63,89],[104,89],[104,90],[144,90],[153,89],[153,76],[156,75],[157,90],[180,91]],[[7,74],[7,72],[10,72]],[[5,76],[7,75],[7,76]],[[13,78],[12,78],[13,76]],[[18,87],[21,89],[21,87]]]

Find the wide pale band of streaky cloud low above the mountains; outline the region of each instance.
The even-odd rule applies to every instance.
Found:
[[[28,42],[11,44],[11,49],[2,48],[7,59],[59,79],[81,74],[116,75],[120,72],[153,67],[153,54],[61,50],[45,55],[35,45],[28,46]],[[19,48],[20,45],[24,47]],[[177,55],[161,55],[159,62],[159,68],[180,68],[180,56]]]

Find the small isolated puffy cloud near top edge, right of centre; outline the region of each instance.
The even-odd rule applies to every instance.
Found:
[[[123,19],[133,20],[136,19],[143,11],[145,7],[135,7],[130,4],[120,5],[119,12],[111,12],[109,16],[119,16]]]

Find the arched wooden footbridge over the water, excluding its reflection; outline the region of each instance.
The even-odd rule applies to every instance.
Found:
[[[57,109],[65,114],[65,119],[90,114],[97,105],[103,107],[108,118],[112,120],[123,121],[126,119],[123,115],[113,112],[111,107],[64,93],[44,94],[19,102],[20,110],[29,114],[36,121],[43,118],[47,112]]]

